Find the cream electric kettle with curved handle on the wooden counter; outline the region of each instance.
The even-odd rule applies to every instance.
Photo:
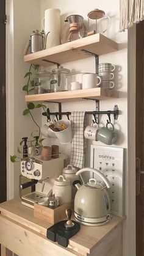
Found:
[[[101,177],[106,186],[96,183],[95,178],[90,178],[89,182],[82,186],[79,180],[74,181],[73,186],[77,188],[74,217],[84,225],[103,225],[110,219],[110,198],[106,191],[106,187],[110,188],[110,182],[103,173],[93,168],[83,168],[76,175],[81,177],[82,172],[87,171]]]

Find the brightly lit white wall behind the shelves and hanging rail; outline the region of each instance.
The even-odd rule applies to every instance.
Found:
[[[80,14],[84,16],[85,25],[87,25],[87,13],[98,7],[99,9],[103,9],[106,11],[108,15],[111,17],[111,26],[109,31],[106,31],[104,35],[112,38],[116,42],[120,43],[120,50],[116,53],[105,54],[104,56],[99,56],[99,62],[111,62],[117,66],[115,73],[115,89],[120,90],[120,99],[110,99],[107,101],[100,102],[100,109],[107,110],[113,109],[115,104],[118,104],[118,107],[121,110],[121,115],[118,118],[118,122],[115,122],[115,129],[118,130],[119,139],[117,142],[118,147],[127,148],[127,41],[128,35],[127,32],[120,34],[118,32],[118,15],[119,15],[119,7],[118,1],[111,1],[111,4],[106,4],[106,1],[97,1],[95,5],[95,1],[74,1],[73,4],[70,0],[60,0],[59,4],[57,1],[41,1],[41,19],[44,16],[45,9],[48,8],[59,8],[61,10],[61,24],[63,28],[63,24],[67,15],[70,14]],[[121,57],[123,56],[123,57]],[[93,57],[84,60],[77,60],[75,62],[69,62],[63,65],[66,68],[72,70],[73,73],[78,72],[95,72],[95,60]],[[52,67],[54,68],[54,67]],[[48,69],[50,70],[50,69]],[[121,98],[122,97],[122,98]],[[121,104],[122,103],[122,104]],[[52,107],[51,107],[52,106]],[[49,104],[49,108],[54,109],[54,105]],[[86,110],[91,111],[95,110],[95,102],[92,101],[84,101],[84,102],[72,102],[72,103],[63,103],[62,104],[63,111],[73,111],[73,110]],[[106,123],[106,115],[101,117],[101,123]],[[45,122],[45,120],[43,120]],[[91,120],[90,120],[91,122]],[[121,125],[123,124],[123,125]],[[99,144],[99,142],[94,142],[95,144]],[[63,148],[64,150],[64,148]],[[70,147],[65,147],[65,152],[70,152]]]

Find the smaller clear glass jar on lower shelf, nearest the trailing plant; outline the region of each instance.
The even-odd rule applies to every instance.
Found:
[[[49,93],[50,82],[51,82],[51,72],[43,71],[35,74],[35,78],[34,78],[35,94]]]

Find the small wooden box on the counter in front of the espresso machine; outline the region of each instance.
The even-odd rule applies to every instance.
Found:
[[[65,214],[67,208],[73,209],[73,201],[65,203],[56,209],[51,209],[43,205],[38,205],[38,203],[34,203],[34,216],[51,224],[56,224],[57,222],[62,221],[62,219],[67,218]]]

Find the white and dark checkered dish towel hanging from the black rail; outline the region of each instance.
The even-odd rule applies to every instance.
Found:
[[[84,167],[85,148],[87,145],[87,141],[84,138],[85,126],[85,112],[71,112],[71,128],[73,132],[73,141],[71,145],[71,164],[80,169]]]

